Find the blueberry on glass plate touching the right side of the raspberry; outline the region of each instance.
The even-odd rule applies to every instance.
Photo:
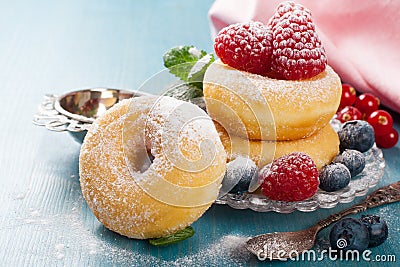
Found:
[[[341,163],[325,165],[319,172],[319,188],[327,192],[345,188],[351,179],[349,169]]]

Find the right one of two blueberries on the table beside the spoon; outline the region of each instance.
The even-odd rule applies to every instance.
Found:
[[[388,227],[384,220],[376,215],[362,215],[360,221],[368,228],[369,247],[376,247],[388,237]]]

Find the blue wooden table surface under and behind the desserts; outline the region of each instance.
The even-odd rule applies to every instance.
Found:
[[[163,69],[170,47],[212,51],[207,11],[212,1],[0,1],[0,266],[255,266],[240,247],[246,237],[300,230],[350,204],[311,213],[257,213],[214,205],[193,224],[196,234],[156,248],[105,229],[79,186],[80,146],[66,133],[31,123],[46,93],[108,86],[135,89]],[[400,130],[400,116],[395,115]],[[378,186],[399,180],[400,144],[384,151]],[[361,198],[355,201],[360,201]],[[389,238],[371,249],[400,262],[400,203],[371,210],[389,224]],[[358,215],[360,216],[360,215]],[[328,231],[316,250],[326,248]],[[302,262],[354,265],[356,262]],[[357,264],[374,266],[376,262]]]

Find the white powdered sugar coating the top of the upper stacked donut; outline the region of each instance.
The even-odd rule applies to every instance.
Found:
[[[307,80],[277,80],[238,71],[220,61],[210,65],[204,81],[222,85],[249,102],[296,105],[300,108],[298,111],[315,102],[330,102],[332,95],[338,94],[336,85],[340,85],[339,77],[329,66],[325,72]]]

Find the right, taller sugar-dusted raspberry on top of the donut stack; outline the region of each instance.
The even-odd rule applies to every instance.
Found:
[[[271,68],[276,78],[307,79],[325,70],[325,50],[308,9],[285,2],[278,6],[268,25],[273,38]]]

